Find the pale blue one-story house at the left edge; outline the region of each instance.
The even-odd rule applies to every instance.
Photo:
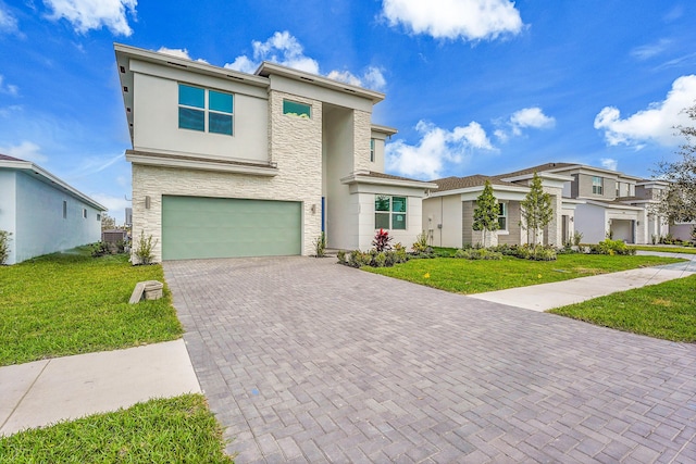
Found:
[[[99,241],[104,206],[36,164],[0,154],[0,230],[7,264]]]

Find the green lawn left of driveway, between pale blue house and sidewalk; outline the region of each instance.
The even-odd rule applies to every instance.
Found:
[[[164,281],[162,267],[86,247],[0,266],[0,365],[179,338],[166,286],[160,300],[128,304],[140,280]]]

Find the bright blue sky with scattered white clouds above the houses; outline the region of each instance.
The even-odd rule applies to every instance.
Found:
[[[696,102],[693,1],[0,0],[0,153],[123,221],[130,148],[113,42],[386,93],[387,172],[579,162],[650,176]]]

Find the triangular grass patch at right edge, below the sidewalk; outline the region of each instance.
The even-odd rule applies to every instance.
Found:
[[[619,330],[694,343],[696,275],[549,312]]]

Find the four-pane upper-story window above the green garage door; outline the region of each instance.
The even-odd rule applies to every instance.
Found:
[[[178,127],[182,129],[231,136],[233,109],[232,93],[178,85]]]

